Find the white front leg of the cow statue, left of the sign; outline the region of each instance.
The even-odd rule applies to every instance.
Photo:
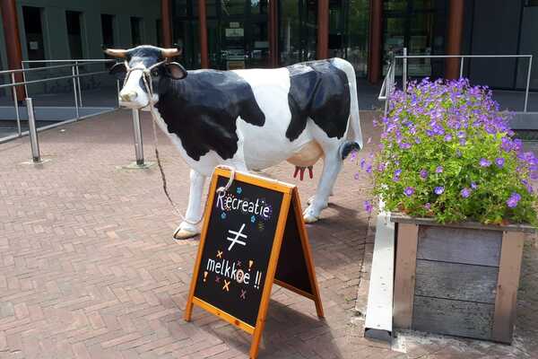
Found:
[[[185,221],[179,224],[178,229],[174,232],[174,238],[177,240],[187,240],[195,237],[200,233],[198,224],[202,218],[202,195],[204,192],[205,176],[195,170],[190,171],[190,190],[188,193],[187,214]]]

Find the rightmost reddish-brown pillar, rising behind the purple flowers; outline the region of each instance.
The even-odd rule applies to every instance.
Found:
[[[464,0],[450,0],[448,7],[447,55],[461,55],[464,32]],[[459,77],[459,58],[447,58],[445,78]]]

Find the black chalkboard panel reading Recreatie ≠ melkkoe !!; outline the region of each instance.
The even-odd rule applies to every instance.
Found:
[[[219,177],[217,188],[227,182]],[[282,197],[281,192],[234,180],[228,192],[216,194],[211,207],[195,297],[252,327],[256,326]]]

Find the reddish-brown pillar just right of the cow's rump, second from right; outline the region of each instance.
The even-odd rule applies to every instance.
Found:
[[[369,18],[368,81],[369,83],[378,83],[382,69],[383,0],[370,0]]]

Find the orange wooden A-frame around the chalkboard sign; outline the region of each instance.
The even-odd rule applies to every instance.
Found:
[[[250,346],[249,356],[251,359],[256,359],[256,356],[258,354],[260,340],[262,337],[262,332],[265,327],[265,320],[266,320],[266,315],[267,315],[267,309],[269,306],[269,300],[271,297],[271,290],[273,287],[273,283],[275,283],[276,285],[281,285],[282,287],[289,289],[292,292],[298,293],[300,295],[307,297],[308,299],[311,299],[316,304],[317,316],[319,318],[324,317],[321,297],[319,295],[319,289],[317,287],[314,261],[312,258],[310,245],[308,243],[308,232],[305,228],[305,224],[302,219],[299,192],[297,190],[297,187],[287,184],[287,183],[277,181],[277,180],[268,180],[259,176],[236,172],[234,180],[239,180],[241,182],[245,182],[245,183],[248,183],[257,187],[261,187],[261,188],[268,188],[273,191],[282,192],[283,194],[282,206],[280,209],[278,221],[276,224],[276,231],[274,234],[273,249],[271,250],[271,256],[269,258],[269,264],[267,267],[267,275],[265,277],[264,291],[262,293],[262,300],[260,302],[260,307],[258,310],[256,327],[252,327],[251,325],[233,317],[227,312],[221,311],[219,308],[213,306],[212,304],[208,302],[204,302],[203,300],[199,298],[196,298],[195,297],[196,278],[198,277],[198,274],[199,274],[200,264],[202,261],[202,255],[204,253],[204,244],[207,239],[209,220],[211,217],[212,205],[213,205],[213,200],[216,193],[217,180],[219,177],[230,178],[230,171],[217,168],[213,173],[211,186],[209,188],[209,195],[207,197],[207,202],[205,204],[204,225],[202,228],[202,234],[200,236],[200,245],[198,246],[198,254],[196,255],[195,269],[193,271],[193,277],[191,280],[190,290],[189,290],[189,294],[187,298],[187,307],[185,309],[184,319],[186,321],[190,321],[192,319],[193,307],[194,305],[196,305],[204,309],[205,311],[209,311],[210,313],[213,313],[214,315],[221,318],[222,320],[226,320],[230,324],[238,328],[241,328],[242,330],[246,331],[248,334],[251,334],[253,336],[252,344]],[[303,254],[306,260],[306,267],[308,268],[308,277],[310,280],[310,286],[312,288],[313,293],[306,293],[300,290],[299,288],[294,287],[293,285],[282,282],[280,280],[276,280],[274,278],[275,273],[276,273],[276,267],[278,264],[278,258],[280,256],[282,241],[284,240],[283,238],[284,229],[286,226],[286,221],[288,219],[288,214],[290,210],[295,211],[297,228],[299,232],[300,241],[302,244]]]

